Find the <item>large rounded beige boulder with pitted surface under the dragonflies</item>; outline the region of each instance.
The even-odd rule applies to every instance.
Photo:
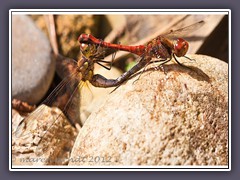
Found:
[[[189,57],[196,61],[179,61],[191,69],[148,68],[110,94],[78,134],[69,165],[227,165],[228,65]]]

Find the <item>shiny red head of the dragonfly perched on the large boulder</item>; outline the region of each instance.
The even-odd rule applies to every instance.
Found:
[[[185,56],[188,51],[189,44],[186,40],[178,38],[177,42],[174,44],[174,54],[177,57]]]

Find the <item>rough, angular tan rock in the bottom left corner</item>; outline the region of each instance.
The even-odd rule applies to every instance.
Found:
[[[41,105],[23,118],[13,111],[13,165],[66,165],[76,130],[57,108]],[[16,125],[16,123],[19,123]]]

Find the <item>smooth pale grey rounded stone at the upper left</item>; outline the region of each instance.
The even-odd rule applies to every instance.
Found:
[[[53,79],[55,61],[45,34],[25,15],[12,16],[12,97],[38,103]]]

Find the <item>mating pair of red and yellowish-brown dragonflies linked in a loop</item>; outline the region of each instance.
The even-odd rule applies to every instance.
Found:
[[[179,65],[181,65],[181,63],[177,60],[177,57],[186,57],[185,55],[188,51],[189,44],[186,40],[179,37],[182,37],[184,34],[200,28],[203,24],[204,21],[200,21],[193,25],[175,31],[170,31],[149,41],[146,45],[138,46],[112,44],[97,39],[90,34],[81,34],[78,38],[78,41],[80,43],[81,58],[77,62],[73,60],[71,61],[71,63],[74,65],[73,67],[75,67],[73,68],[73,73],[62,80],[62,82],[54,89],[54,91],[43,102],[43,104],[51,106],[53,100],[58,94],[60,94],[60,91],[64,88],[65,85],[72,86],[70,88],[73,90],[72,94],[74,94],[76,89],[81,86],[81,82],[86,81],[89,81],[95,87],[118,87],[123,82],[131,78],[131,76],[133,76],[136,72],[140,71],[151,63],[160,62],[160,66],[162,66],[163,64],[174,59]],[[129,71],[123,73],[117,79],[107,79],[100,74],[94,74],[95,63],[107,68],[108,70],[111,69],[113,63],[112,61],[108,62],[103,60],[103,54],[99,51],[100,47],[128,51],[140,56],[140,60]],[[101,63],[108,63],[109,67],[106,67]],[[67,104],[62,109],[67,117],[72,96],[69,98]],[[33,114],[35,115],[28,116],[19,124],[16,133],[24,128],[22,126],[27,124],[25,121],[33,121],[33,118],[40,116],[41,109],[37,109],[33,112]]]

